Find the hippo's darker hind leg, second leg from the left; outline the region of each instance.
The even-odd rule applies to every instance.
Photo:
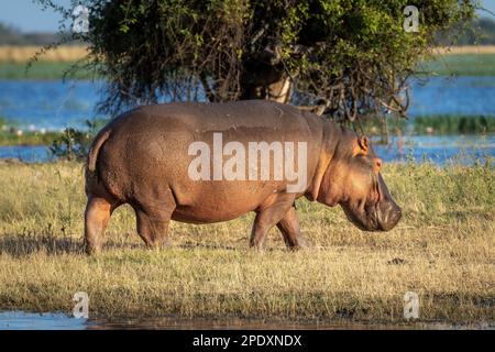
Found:
[[[164,201],[134,206],[138,233],[150,249],[169,245],[168,224],[175,210],[175,200],[169,191]]]

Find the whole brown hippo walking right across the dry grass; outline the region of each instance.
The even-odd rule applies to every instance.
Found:
[[[366,136],[289,105],[139,107],[109,122],[89,150],[85,249],[101,250],[110,216],[123,204],[134,209],[148,248],[169,244],[170,220],[211,223],[251,211],[252,248],[262,249],[274,226],[287,248],[305,248],[295,204],[300,197],[341,206],[361,230],[387,231],[402,210],[382,166]]]

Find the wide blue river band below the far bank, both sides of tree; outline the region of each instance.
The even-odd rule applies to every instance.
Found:
[[[99,117],[102,81],[0,80],[0,117],[20,128],[61,130]],[[411,85],[409,114],[493,114],[495,77],[431,77]]]

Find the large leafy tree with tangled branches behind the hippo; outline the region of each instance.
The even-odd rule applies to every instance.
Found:
[[[57,9],[65,19],[72,9]],[[349,121],[405,114],[407,79],[435,34],[469,23],[477,0],[87,0],[88,66],[100,110],[170,100],[272,99]],[[419,32],[403,28],[419,10]],[[65,28],[62,25],[61,31]]]

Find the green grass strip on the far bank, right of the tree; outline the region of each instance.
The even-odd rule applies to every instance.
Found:
[[[495,76],[495,54],[449,54],[418,66],[433,76]]]

